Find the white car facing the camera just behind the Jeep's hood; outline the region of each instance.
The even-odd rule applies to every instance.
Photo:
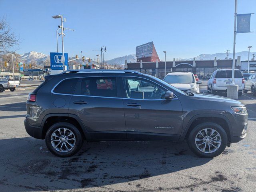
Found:
[[[168,73],[164,81],[182,91],[190,91],[199,93],[199,84],[202,81],[196,81],[196,78],[192,72],[174,72]]]

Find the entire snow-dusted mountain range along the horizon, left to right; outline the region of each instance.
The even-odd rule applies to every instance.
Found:
[[[256,54],[256,52],[250,52],[250,60],[252,58],[252,54]],[[242,52],[238,52],[235,54],[235,58],[237,58],[237,56],[241,56],[241,60],[248,60],[248,52],[247,51],[242,51]],[[196,60],[214,60],[214,57],[217,57],[217,59],[225,59],[226,58],[226,53],[216,53],[216,54],[200,54],[199,56],[196,57]],[[28,53],[24,53],[22,55],[20,55],[20,58],[23,62],[25,63],[30,63],[30,62],[36,62],[37,64],[42,64],[43,60],[50,60],[50,56],[43,54],[43,53],[39,53],[39,52],[35,52],[35,51],[31,51]],[[69,59],[74,59],[75,57],[69,57]],[[127,60],[128,63],[130,62],[136,62],[136,60],[134,60],[135,54],[130,54],[130,55],[126,55],[126,56],[122,56],[122,57],[117,57],[111,60],[106,60],[105,62],[107,64],[110,65],[124,65],[124,61]],[[228,53],[228,58],[233,58],[233,54],[232,53]],[[180,59],[180,60],[193,60],[193,58],[185,58],[185,59]],[[76,64],[86,64],[86,62],[82,62],[82,60],[75,60]],[[95,60],[92,60],[92,63],[96,63]]]

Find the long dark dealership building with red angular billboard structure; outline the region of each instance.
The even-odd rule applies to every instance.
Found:
[[[138,52],[137,48],[140,46],[137,46],[137,62],[128,63],[127,61],[125,61],[124,68],[128,70],[135,70],[138,72],[142,72],[144,74],[149,74],[152,76],[156,76],[160,79],[163,79],[164,62],[160,61],[159,58],[155,61],[152,61],[154,58],[156,58],[157,55],[154,49],[153,42],[148,43],[148,46],[152,45],[152,48],[144,48],[144,50],[147,50],[146,54],[143,54],[143,51]],[[149,52],[150,50],[152,50],[151,53]],[[151,62],[144,62],[148,60],[151,60]],[[217,69],[231,69],[232,63],[232,59],[220,60],[216,57],[214,58],[214,60],[196,60],[194,58],[194,60],[176,61],[175,59],[173,59],[173,61],[166,61],[166,74],[170,72],[193,72],[194,74],[197,74],[198,78],[200,79],[208,79],[210,78],[212,73]],[[235,60],[235,68],[240,69],[242,72],[247,72],[248,61],[241,61],[240,56],[238,56]],[[250,61],[249,70],[250,72],[256,71],[256,61]]]

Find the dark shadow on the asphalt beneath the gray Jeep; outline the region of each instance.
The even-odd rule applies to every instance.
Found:
[[[44,140],[31,137],[0,140],[0,146],[5,146],[0,148],[0,191],[91,187],[108,191],[110,184],[127,182],[132,187],[134,180],[143,183],[212,160],[195,156],[186,143],[160,141],[85,142],[69,158],[52,155]]]

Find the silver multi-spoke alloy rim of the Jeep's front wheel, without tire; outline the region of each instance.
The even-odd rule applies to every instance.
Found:
[[[195,144],[204,153],[213,153],[220,148],[221,136],[215,129],[205,128],[196,134]]]

